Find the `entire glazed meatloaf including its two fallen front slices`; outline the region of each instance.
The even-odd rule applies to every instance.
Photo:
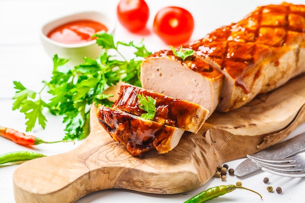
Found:
[[[100,106],[96,112],[104,129],[133,156],[152,148],[167,153],[184,130],[196,132],[213,111],[239,108],[304,73],[305,5],[258,7],[183,50],[193,50],[193,55],[183,60],[172,50],[161,50],[147,57],[141,65],[142,88],[123,84],[113,108]],[[156,100],[152,120],[141,117],[136,95],[142,93]],[[171,101],[182,103],[175,106]],[[201,109],[201,120],[192,122],[198,111],[175,112],[187,109],[182,105],[189,104],[186,101],[194,110]],[[187,120],[192,128],[182,115],[191,118]]]

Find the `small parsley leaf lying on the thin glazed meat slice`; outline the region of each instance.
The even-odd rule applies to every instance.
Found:
[[[146,111],[147,113],[142,113],[141,118],[153,119],[156,113],[156,100],[151,96],[144,96],[143,94],[137,94],[139,99],[139,108]]]

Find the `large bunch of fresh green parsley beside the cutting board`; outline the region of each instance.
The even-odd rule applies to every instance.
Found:
[[[84,63],[70,68],[67,59],[53,58],[54,69],[50,81],[42,81],[41,91],[34,92],[14,81],[16,94],[13,110],[25,114],[26,131],[31,131],[38,121],[44,129],[47,119],[43,114],[48,109],[53,115],[62,115],[66,124],[64,140],[84,139],[89,134],[89,112],[91,104],[111,106],[111,94],[103,92],[120,80],[141,87],[139,80],[142,59],[151,55],[143,45],[133,42],[114,43],[113,36],[107,33],[96,34],[96,43],[103,49],[97,59],[84,57]],[[127,60],[120,47],[133,49],[135,57]],[[110,55],[114,52],[116,55]],[[135,59],[136,58],[136,59]],[[51,99],[44,100],[41,92],[46,90]]]

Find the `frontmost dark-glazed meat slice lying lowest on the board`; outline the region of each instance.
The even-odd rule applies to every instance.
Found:
[[[167,153],[176,147],[184,130],[140,118],[124,111],[99,106],[98,122],[114,141],[121,142],[133,156],[155,148]]]

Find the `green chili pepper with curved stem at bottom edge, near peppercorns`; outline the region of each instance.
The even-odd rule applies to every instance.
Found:
[[[228,192],[232,192],[233,190],[235,190],[237,188],[246,189],[251,192],[254,192],[254,193],[258,194],[261,197],[261,199],[263,199],[263,197],[258,192],[255,192],[246,187],[242,187],[242,184],[240,182],[237,182],[236,185],[220,185],[217,187],[211,187],[211,188],[195,195],[194,197],[185,201],[184,203],[204,203],[213,198],[219,197],[221,195],[225,195]]]

